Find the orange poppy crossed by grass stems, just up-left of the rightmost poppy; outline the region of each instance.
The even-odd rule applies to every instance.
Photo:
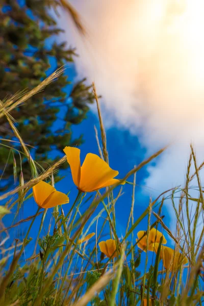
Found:
[[[144,236],[144,237],[143,237]],[[160,242],[160,238],[162,237],[162,233],[159,232],[158,230],[156,230],[156,228],[151,228],[151,230],[149,231],[149,236],[148,236],[148,250],[149,251],[154,251],[154,244],[155,242]],[[147,232],[145,231],[139,231],[137,233],[137,237],[138,239],[136,239],[136,241],[139,240],[139,242],[137,243],[137,246],[142,249],[143,251],[146,252],[146,246],[147,246]],[[163,236],[163,244],[166,244],[166,239]]]

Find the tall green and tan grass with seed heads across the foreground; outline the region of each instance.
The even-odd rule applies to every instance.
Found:
[[[16,94],[0,104],[0,117],[6,116],[15,141],[21,144],[22,151],[18,151],[18,154],[21,158],[28,159],[32,170],[30,181],[24,182],[22,169],[18,186],[0,196],[4,204],[0,207],[0,218],[10,210],[21,217],[17,222],[13,222],[11,217],[11,224],[7,228],[4,226],[4,219],[1,220],[0,305],[201,305],[204,200],[199,171],[204,163],[197,165],[192,145],[184,187],[164,191],[156,199],[150,198],[149,206],[141,215],[134,214],[137,209],[136,173],[162,154],[165,148],[135,166],[123,177],[122,181],[133,186],[132,202],[125,202],[125,209],[130,210],[130,215],[126,220],[123,237],[118,237],[115,216],[117,201],[124,196],[125,190],[125,185],[117,188],[119,183],[106,190],[94,192],[94,197],[79,193],[74,202],[67,204],[67,215],[64,214],[63,206],[49,209],[53,210],[53,218],[44,236],[41,231],[45,222],[48,222],[47,210],[37,209],[36,205],[36,213],[23,218],[22,207],[26,206],[29,198],[33,196],[32,187],[41,180],[50,180],[54,185],[53,174],[60,169],[66,158],[63,157],[44,171],[31,157],[29,147],[23,142],[9,112],[20,107],[22,103],[27,103],[31,95],[42,90],[62,72],[56,71],[31,92],[21,93],[20,96]],[[94,84],[93,93],[101,136],[98,137],[99,133],[95,128],[99,155],[108,162],[106,132]],[[5,140],[1,139],[0,144],[5,145]],[[8,151],[9,149],[13,156],[13,176],[16,181],[15,142],[8,144]],[[4,173],[1,179],[3,176]],[[191,185],[192,182],[194,186]],[[83,205],[86,205],[86,211],[81,213],[80,208]],[[168,206],[171,216],[174,216],[174,229],[165,224],[166,218],[162,215],[164,205]],[[41,218],[41,221],[32,250],[30,231],[33,226],[36,229],[36,218]],[[98,222],[99,220],[102,221]],[[151,228],[159,228],[163,235],[172,241],[175,251],[180,251],[188,258],[187,266],[179,266],[172,271],[164,268],[160,257],[162,239],[157,255],[147,250],[148,242],[146,253],[138,249],[140,239],[136,241],[136,233],[143,220],[148,220],[144,228],[147,238]],[[24,223],[29,224],[24,239],[16,239],[13,242],[13,237],[9,234],[10,229],[18,228]],[[80,243],[79,239],[89,233],[91,226],[96,228],[95,238]],[[50,232],[51,228],[54,228],[53,233]],[[104,234],[116,241],[115,258],[104,259],[104,254],[98,248],[98,242],[103,240]],[[33,254],[25,262],[23,254],[27,253],[28,249],[33,251]]]

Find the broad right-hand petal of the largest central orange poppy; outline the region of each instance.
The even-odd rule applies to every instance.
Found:
[[[88,153],[81,168],[80,190],[91,192],[106,185],[118,175],[99,156]]]

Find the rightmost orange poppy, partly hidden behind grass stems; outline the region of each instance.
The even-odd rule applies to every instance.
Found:
[[[159,243],[155,243],[155,252],[157,253]],[[160,258],[163,260],[165,269],[174,271],[188,263],[188,259],[184,254],[176,251],[170,247],[163,246],[160,251]]]

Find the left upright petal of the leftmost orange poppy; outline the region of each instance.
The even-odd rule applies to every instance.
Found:
[[[37,205],[42,206],[45,199],[54,191],[56,191],[56,189],[53,186],[43,181],[33,186],[33,196]]]

